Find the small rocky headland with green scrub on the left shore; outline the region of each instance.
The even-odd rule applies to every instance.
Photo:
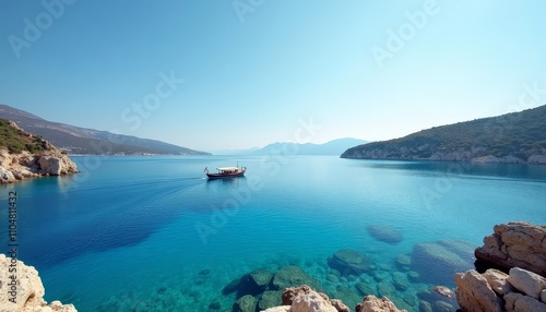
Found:
[[[64,152],[15,122],[0,119],[0,183],[78,172]]]

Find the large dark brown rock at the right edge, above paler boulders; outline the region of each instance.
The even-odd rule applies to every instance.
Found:
[[[494,233],[476,249],[478,262],[506,269],[521,267],[546,275],[546,226],[529,223],[496,225]]]

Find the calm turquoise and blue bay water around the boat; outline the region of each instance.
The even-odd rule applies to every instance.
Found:
[[[229,281],[286,265],[353,309],[364,295],[357,284],[377,295],[395,275],[417,272],[388,292],[418,311],[420,300],[442,300],[427,289],[454,283],[453,267],[437,272],[438,261],[416,254],[416,244],[456,241],[466,248],[458,268],[467,269],[468,250],[495,224],[546,224],[544,166],[328,156],[74,160],[85,172],[8,185],[2,197],[17,192],[20,259],[38,269],[46,300],[80,311],[230,311],[237,295],[222,293]],[[204,179],[204,167],[237,161],[248,167],[246,178]],[[372,236],[370,225],[401,240]],[[333,269],[328,260],[343,249],[365,254],[372,268],[346,276]],[[412,264],[397,265],[399,255]]]

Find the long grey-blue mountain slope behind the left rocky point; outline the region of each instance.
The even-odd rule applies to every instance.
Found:
[[[0,118],[14,121],[25,131],[43,136],[70,154],[210,155],[156,140],[51,122],[8,105],[0,105]]]

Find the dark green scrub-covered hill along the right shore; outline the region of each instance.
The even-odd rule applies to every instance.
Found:
[[[546,106],[355,146],[341,157],[546,164]]]

